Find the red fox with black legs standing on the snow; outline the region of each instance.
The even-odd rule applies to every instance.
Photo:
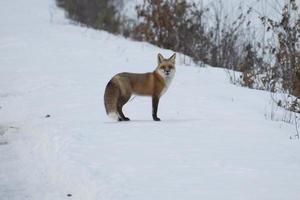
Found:
[[[175,75],[174,53],[170,58],[165,59],[158,54],[158,65],[153,72],[144,74],[119,73],[107,84],[104,93],[104,105],[109,117],[118,121],[129,121],[125,117],[122,108],[128,102],[132,94],[152,97],[152,117],[157,117],[159,98],[167,91]]]

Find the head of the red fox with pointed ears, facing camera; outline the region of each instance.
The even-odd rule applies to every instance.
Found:
[[[156,71],[163,78],[173,78],[175,75],[175,60],[176,54],[174,53],[170,58],[165,59],[160,53],[158,54],[158,65]]]

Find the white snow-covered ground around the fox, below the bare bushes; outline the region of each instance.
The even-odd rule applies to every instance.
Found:
[[[161,122],[146,97],[111,122],[108,80],[172,52],[70,25],[51,0],[0,1],[0,25],[1,200],[300,199],[296,130],[266,117],[267,92],[178,59]]]

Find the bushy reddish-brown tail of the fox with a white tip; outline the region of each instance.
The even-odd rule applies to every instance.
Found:
[[[118,120],[118,112],[117,112],[117,103],[120,95],[120,87],[117,82],[113,79],[110,80],[105,88],[104,93],[104,106],[106,110],[106,114],[114,119]]]

